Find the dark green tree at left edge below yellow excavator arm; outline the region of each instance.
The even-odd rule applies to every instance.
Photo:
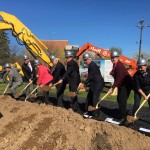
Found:
[[[10,62],[11,52],[9,49],[10,40],[4,31],[0,31],[0,63]]]

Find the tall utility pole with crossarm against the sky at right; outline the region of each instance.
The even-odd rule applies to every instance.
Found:
[[[137,27],[140,28],[140,43],[139,43],[139,56],[138,56],[138,60],[140,60],[141,58],[141,46],[142,46],[142,31],[144,27],[150,27],[150,25],[144,25],[144,17],[142,18],[141,21],[139,21],[139,24],[137,25]]]

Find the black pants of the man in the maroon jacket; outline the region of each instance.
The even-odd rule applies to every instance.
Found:
[[[124,119],[127,115],[127,100],[131,92],[130,86],[121,86],[118,88],[117,102],[119,105],[119,118]]]

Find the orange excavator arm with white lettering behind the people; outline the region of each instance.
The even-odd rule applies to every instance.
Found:
[[[110,54],[111,54],[111,51],[109,51],[108,49],[103,49],[103,48],[99,48],[99,47],[96,47],[94,45],[92,45],[91,43],[87,43],[87,44],[84,44],[78,51],[78,53],[76,54],[77,57],[79,57],[81,54],[83,54],[85,51],[91,51],[91,52],[94,52],[96,53],[97,55],[99,56],[103,56],[107,59],[110,59]],[[128,58],[128,57],[125,57],[123,55],[120,55],[119,56],[120,58],[120,61],[124,64],[124,65],[127,65],[128,66],[128,72],[131,76],[134,75],[134,73],[136,72],[136,63],[137,61],[134,60],[134,59],[131,59],[131,58]]]

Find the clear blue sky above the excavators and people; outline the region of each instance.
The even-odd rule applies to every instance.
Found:
[[[127,57],[139,50],[138,22],[144,17],[150,25],[150,0],[1,0],[0,8],[38,39],[117,47]],[[150,52],[150,28],[143,29],[142,39],[142,50]]]

